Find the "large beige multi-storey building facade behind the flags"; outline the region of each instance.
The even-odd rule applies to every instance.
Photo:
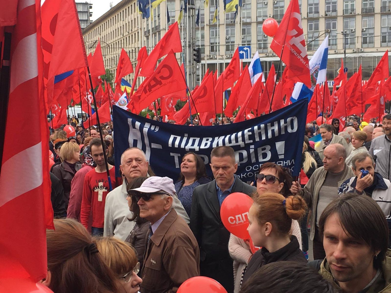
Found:
[[[267,18],[280,22],[288,5],[289,0],[242,0],[235,14],[224,12],[223,1],[209,0],[206,6],[204,0],[189,0],[179,25],[184,54],[177,54],[178,62],[185,63],[189,87],[199,82],[206,68],[221,73],[237,46],[250,46],[251,56],[258,50],[265,75],[272,63],[277,70],[279,59],[270,50],[272,38],[262,32],[262,23]],[[362,64],[363,79],[369,79],[391,47],[391,0],[299,0],[299,5],[309,57],[329,35],[327,79],[334,79],[344,58],[348,77]],[[166,0],[151,7],[149,19],[142,19],[136,1],[123,0],[83,29],[87,53],[95,50],[100,38],[107,69],[115,74],[121,48],[135,67],[138,50],[142,46],[148,53],[152,50],[178,20],[181,6],[183,1]],[[195,24],[198,11],[199,26]],[[193,49],[198,46],[202,60],[195,64]],[[249,61],[251,57],[243,60]]]

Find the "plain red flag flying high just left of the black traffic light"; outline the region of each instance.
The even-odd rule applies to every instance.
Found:
[[[140,75],[149,77],[154,73],[156,62],[158,59],[170,53],[182,52],[181,38],[179,37],[178,22],[170,26],[169,30],[164,34],[160,41],[149,53],[147,59],[141,68]],[[178,62],[177,62],[178,63]],[[183,79],[183,78],[182,78]]]

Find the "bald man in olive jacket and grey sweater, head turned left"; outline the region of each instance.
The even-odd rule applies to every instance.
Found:
[[[291,192],[305,198],[312,209],[311,235],[314,259],[326,257],[323,240],[319,238],[319,218],[326,206],[338,197],[341,184],[354,176],[353,170],[345,164],[346,149],[339,143],[328,145],[323,152],[323,167],[317,168],[304,188],[299,182],[292,182]]]

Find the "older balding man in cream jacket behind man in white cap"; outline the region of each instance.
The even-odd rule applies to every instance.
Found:
[[[113,191],[109,192],[106,197],[106,205],[104,207],[104,236],[115,236],[125,240],[132,231],[135,222],[131,222],[128,218],[132,218],[133,214],[129,211],[127,204],[127,184],[137,177],[149,177],[155,174],[148,172],[149,163],[145,154],[139,148],[131,147],[125,150],[121,155],[120,171],[122,173],[123,183]],[[190,223],[185,208],[178,199],[178,195],[173,195],[172,207],[176,210],[187,223]]]

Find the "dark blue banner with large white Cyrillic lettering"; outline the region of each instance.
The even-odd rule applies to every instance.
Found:
[[[143,118],[113,106],[115,165],[129,147],[145,152],[147,161],[158,176],[174,181],[187,152],[199,154],[208,175],[212,148],[221,145],[235,150],[238,170],[243,181],[254,180],[259,166],[275,162],[299,175],[307,117],[307,99],[283,109],[240,123],[218,126],[184,126]],[[120,177],[119,168],[117,176]]]

